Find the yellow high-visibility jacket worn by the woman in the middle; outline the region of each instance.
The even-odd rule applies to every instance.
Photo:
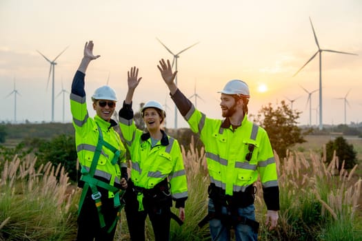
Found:
[[[188,198],[188,185],[178,141],[161,131],[163,137],[152,147],[150,134],[137,129],[130,105],[128,110],[125,106],[126,104],[123,104],[119,111],[119,127],[130,150],[131,178],[134,185],[152,189],[168,178],[172,198],[184,202]],[[128,114],[124,114],[125,112]]]

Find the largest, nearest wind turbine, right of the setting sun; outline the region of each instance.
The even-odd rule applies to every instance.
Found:
[[[350,54],[350,55],[358,55],[358,54],[352,54],[352,53],[341,52],[341,51],[336,51],[336,50],[323,50],[323,49],[321,49],[319,47],[318,39],[316,39],[316,32],[314,31],[314,28],[313,28],[312,19],[309,18],[309,20],[310,20],[310,25],[312,25],[314,40],[316,41],[316,46],[318,47],[318,50],[307,61],[307,63],[305,63],[293,76],[296,76],[296,74],[298,74],[303,69],[303,67],[305,67],[305,65],[308,65],[308,63],[310,61],[312,61],[312,59],[314,59],[316,54],[319,53],[319,129],[323,129],[323,121],[322,121],[322,52],[325,51],[325,52],[333,52],[333,53],[337,53],[337,54]]]

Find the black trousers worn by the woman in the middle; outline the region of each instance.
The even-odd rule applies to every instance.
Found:
[[[152,223],[154,240],[168,241],[170,239],[170,202],[154,202],[143,198],[143,211],[139,211],[137,194],[131,191],[125,193],[125,216],[132,241],[145,240],[145,218]],[[172,200],[171,200],[172,204]]]

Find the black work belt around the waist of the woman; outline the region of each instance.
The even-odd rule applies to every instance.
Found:
[[[154,208],[155,207],[161,208],[161,206],[163,205],[165,205],[166,207],[172,207],[172,197],[169,185],[170,183],[165,178],[164,180],[159,182],[156,186],[154,186],[152,189],[145,189],[143,187],[138,187],[134,185],[134,183],[130,179],[128,181],[128,190],[126,192],[126,196],[129,196],[130,193],[133,193],[137,197],[143,195],[145,202],[147,202]],[[142,200],[139,200],[139,202],[142,202]],[[156,209],[153,211],[157,212]],[[172,213],[172,211],[170,211],[170,218],[175,220],[180,226],[183,224],[183,221],[176,214]]]

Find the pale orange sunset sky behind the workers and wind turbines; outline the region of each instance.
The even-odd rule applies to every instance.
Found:
[[[243,1],[243,0],[140,0],[140,1],[0,1],[0,122],[14,121],[14,90],[17,122],[51,121],[52,79],[47,90],[48,63],[53,60],[54,93],[70,92],[83,46],[94,41],[94,54],[86,75],[88,103],[94,90],[109,85],[117,91],[121,107],[127,91],[127,71],[139,67],[143,77],[134,94],[134,109],[150,99],[167,105],[167,127],[174,127],[174,105],[163,83],[158,61],[173,56],[160,39],[180,54],[178,86],[186,96],[196,91],[197,107],[212,118],[221,118],[223,85],[234,78],[250,86],[250,114],[263,105],[296,98],[293,109],[301,112],[299,123],[309,123],[308,94],[319,88],[319,56],[299,74],[318,50],[309,18],[322,49],[351,52],[352,56],[323,52],[323,123],[362,121],[362,1]],[[109,76],[109,80],[108,80]],[[194,98],[191,98],[194,102]],[[288,103],[290,103],[288,101]],[[312,125],[319,123],[319,93],[312,94]],[[55,99],[54,121],[61,122],[62,95]],[[66,94],[65,120],[71,121]],[[89,108],[90,116],[95,112]],[[187,123],[178,115],[178,127]]]

